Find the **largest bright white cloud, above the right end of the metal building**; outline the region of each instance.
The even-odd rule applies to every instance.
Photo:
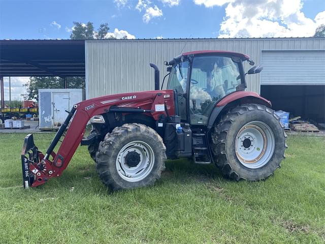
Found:
[[[194,0],[205,7],[222,6],[225,17],[219,38],[232,37],[310,37],[321,23],[325,11],[315,19],[305,16],[302,0]]]

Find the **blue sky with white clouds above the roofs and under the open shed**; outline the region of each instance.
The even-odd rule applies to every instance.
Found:
[[[325,0],[0,0],[0,39],[69,39],[73,21],[128,39],[310,37]],[[27,81],[12,77],[12,99]]]

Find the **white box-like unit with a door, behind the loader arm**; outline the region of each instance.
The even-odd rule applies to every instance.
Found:
[[[39,89],[40,130],[58,129],[72,106],[85,100],[84,89]]]

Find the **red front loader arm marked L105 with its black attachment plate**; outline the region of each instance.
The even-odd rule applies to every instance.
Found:
[[[85,127],[92,116],[120,110],[122,113],[147,113],[157,120],[160,114],[166,115],[165,111],[155,110],[156,104],[166,103],[165,94],[169,95],[167,107],[171,110],[171,114],[174,113],[172,93],[172,90],[149,91],[137,95],[123,94],[100,97],[75,104],[71,111],[67,111],[69,114],[57,131],[45,155],[35,146],[32,134],[25,137],[21,152],[24,188],[43,185],[50,178],[58,177],[62,174],[79,146],[85,133]],[[123,105],[125,104],[123,98],[129,97],[137,99],[135,99],[133,103],[128,103],[131,107],[125,107]],[[120,104],[123,106],[121,105],[119,107],[118,105]],[[146,105],[142,108],[137,106],[137,104]],[[64,135],[64,139],[57,153],[54,153],[53,150],[55,146],[68,126],[69,129],[66,135]]]

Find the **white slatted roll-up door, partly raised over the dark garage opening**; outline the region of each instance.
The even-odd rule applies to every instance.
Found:
[[[325,50],[262,51],[261,85],[325,85]]]

